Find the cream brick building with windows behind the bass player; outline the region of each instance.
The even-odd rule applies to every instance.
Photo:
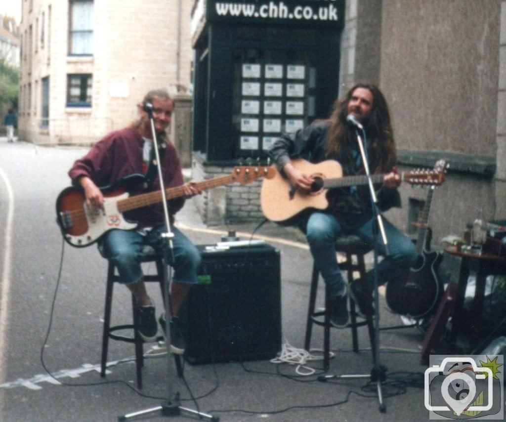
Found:
[[[187,103],[190,8],[190,0],[22,0],[20,138],[96,142],[135,120],[150,89]]]

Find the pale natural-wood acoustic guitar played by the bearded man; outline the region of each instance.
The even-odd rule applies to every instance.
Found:
[[[291,160],[292,165],[302,173],[314,179],[309,193],[293,189],[288,180],[275,171],[274,177],[264,179],[260,192],[260,203],[264,216],[282,225],[291,225],[301,214],[310,209],[326,209],[328,200],[326,193],[332,188],[368,184],[367,176],[344,176],[341,164],[326,160],[312,164],[303,159]],[[273,167],[275,168],[275,167]],[[371,175],[372,183],[381,183],[385,175]],[[413,185],[440,185],[444,173],[433,170],[415,170],[400,173],[401,180]]]

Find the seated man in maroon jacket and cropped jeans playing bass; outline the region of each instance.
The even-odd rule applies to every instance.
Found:
[[[75,161],[69,171],[72,183],[81,186],[86,196],[86,206],[104,208],[104,196],[100,187],[110,186],[133,174],[145,176],[142,186],[131,193],[148,193],[160,190],[151,122],[144,105],[152,105],[153,122],[159,146],[160,165],[165,188],[183,185],[185,197],[167,201],[170,223],[174,215],[183,207],[185,198],[200,193],[192,182],[184,184],[181,163],[168,139],[166,129],[171,123],[174,101],[165,90],[153,90],[146,94],[138,104],[140,118],[129,128],[114,131],[95,144],[82,158]],[[101,239],[99,248],[102,255],[111,260],[119,273],[119,281],[126,285],[137,299],[140,314],[139,333],[145,342],[153,342],[159,334],[155,317],[155,308],[149,298],[141,267],[144,245],[152,246],[157,254],[165,250],[166,240],[160,236],[167,231],[163,213],[163,204],[145,206],[125,213],[129,220],[139,223],[137,230],[108,231]],[[166,254],[168,263],[174,268],[171,284],[171,350],[173,353],[184,352],[184,341],[181,335],[179,318],[181,304],[186,298],[190,286],[197,282],[197,270],[200,265],[200,254],[197,248],[176,227],[171,227],[174,234],[173,254]],[[160,324],[165,316],[160,316]],[[164,330],[163,330],[164,332]]]

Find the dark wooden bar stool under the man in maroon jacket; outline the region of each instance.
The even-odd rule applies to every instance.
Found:
[[[100,250],[100,248],[99,248]],[[101,252],[102,253],[102,252]],[[127,343],[135,344],[135,364],[137,373],[137,387],[142,389],[142,367],[144,366],[144,352],[143,352],[143,340],[137,330],[139,324],[139,311],[137,309],[137,303],[134,295],[132,294],[132,316],[133,324],[115,325],[111,327],[111,307],[112,307],[112,292],[114,282],[119,281],[118,275],[116,275],[116,266],[112,261],[108,261],[107,266],[107,285],[105,292],[105,311],[104,311],[104,329],[102,333],[102,361],[100,366],[100,376],[105,377],[106,364],[107,364],[107,351],[109,347],[109,338],[113,340],[119,340]],[[145,274],[143,280],[145,282],[157,281],[160,284],[160,291],[162,298],[165,299],[164,295],[164,284],[163,284],[163,261],[161,257],[156,255],[155,250],[151,246],[144,246],[142,262],[150,263],[153,262],[156,267],[156,272],[152,274]],[[125,336],[116,333],[117,331],[133,330],[133,336]],[[167,353],[169,348],[167,347]],[[176,361],[176,368],[179,377],[183,376],[183,367],[181,365],[180,355],[174,354]]]

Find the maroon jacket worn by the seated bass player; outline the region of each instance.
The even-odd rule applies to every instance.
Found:
[[[79,177],[88,176],[100,188],[114,185],[125,176],[142,175],[143,145],[144,139],[133,129],[111,132],[95,144],[85,156],[76,160],[68,175],[74,185],[78,184]],[[178,154],[174,145],[171,143],[165,145],[165,152],[161,158],[165,188],[181,186],[184,180]],[[144,189],[141,183],[128,189],[131,194],[158,190],[160,183],[157,174],[151,187]],[[183,207],[184,202],[182,197],[167,201],[171,220],[172,216]],[[160,225],[164,223],[163,206],[161,203],[144,206],[125,213],[124,217],[138,222],[140,227]]]

